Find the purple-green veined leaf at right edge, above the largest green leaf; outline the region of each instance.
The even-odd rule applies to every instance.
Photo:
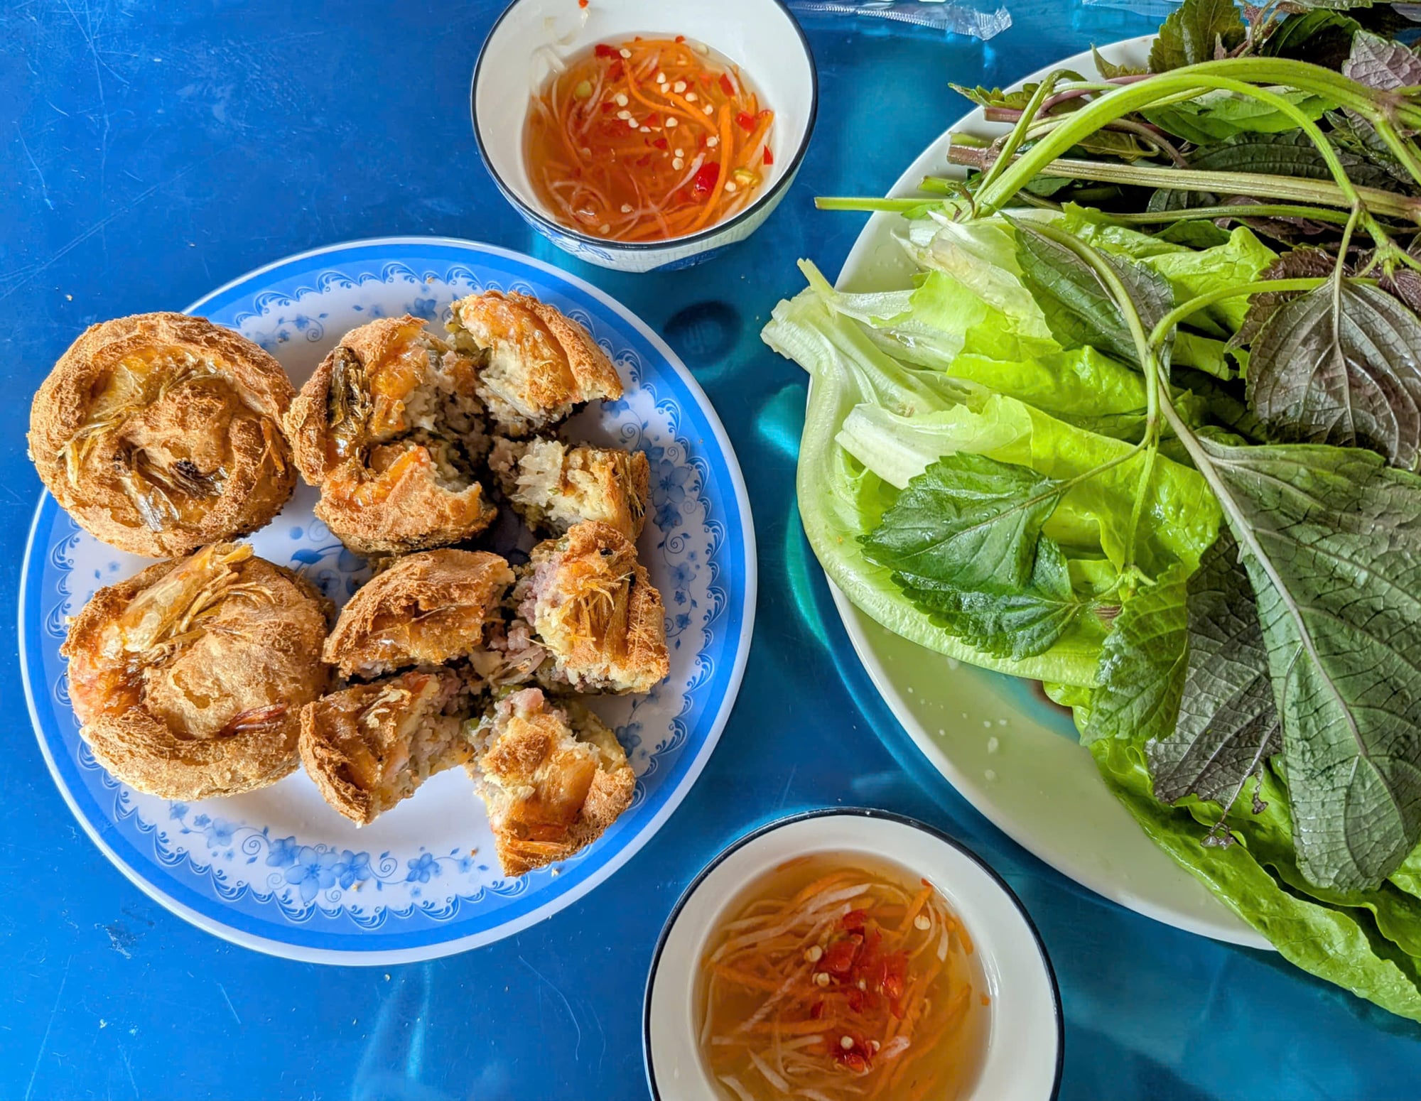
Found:
[[[1249,405],[1282,439],[1421,460],[1421,321],[1390,294],[1333,278],[1283,303],[1253,340]]]

